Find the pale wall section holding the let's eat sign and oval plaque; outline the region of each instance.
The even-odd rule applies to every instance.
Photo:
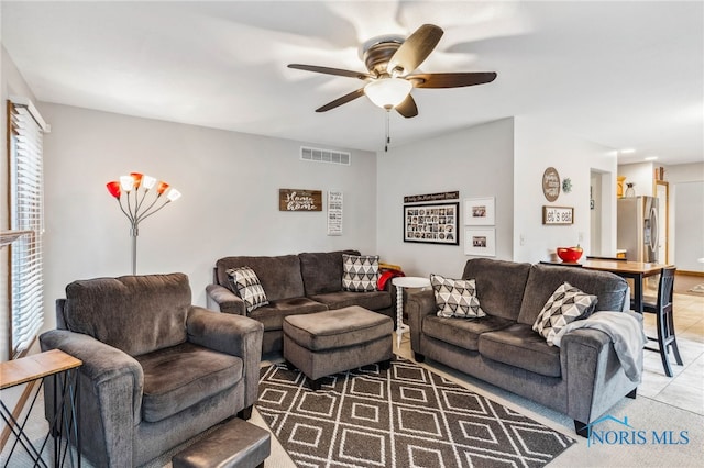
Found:
[[[586,255],[591,254],[592,171],[602,172],[601,226],[608,234],[602,236],[601,248],[615,252],[616,153],[525,116],[515,119],[514,134],[514,260],[546,260],[557,247],[576,244]],[[542,174],[548,167],[558,170],[560,180],[568,177],[572,180],[572,191],[561,190],[554,202],[549,202],[542,193]],[[574,223],[543,225],[543,205],[573,207]]]

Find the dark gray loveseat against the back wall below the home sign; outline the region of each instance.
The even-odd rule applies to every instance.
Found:
[[[208,308],[246,315],[244,301],[233,292],[228,269],[252,268],[264,288],[268,305],[253,310],[249,316],[264,324],[262,353],[279,352],[284,341],[284,317],[304,313],[360,305],[394,319],[391,281],[383,291],[350,292],[342,290],[342,254],[358,250],[302,253],[298,255],[238,256],[216,263],[213,283],[206,288]]]

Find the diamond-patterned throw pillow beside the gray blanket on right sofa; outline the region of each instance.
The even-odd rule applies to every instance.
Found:
[[[568,323],[590,316],[596,301],[596,296],[587,294],[565,281],[550,296],[532,324],[532,330],[552,346],[556,335]]]

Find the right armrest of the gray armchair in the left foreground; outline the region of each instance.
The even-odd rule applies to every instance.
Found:
[[[254,404],[258,392],[264,325],[254,319],[191,307],[186,321],[190,343],[239,356],[244,369],[244,406]]]

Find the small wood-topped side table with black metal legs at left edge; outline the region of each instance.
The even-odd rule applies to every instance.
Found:
[[[31,397],[30,408],[21,422],[13,416],[0,394],[0,414],[15,437],[8,461],[12,459],[14,449],[18,448],[19,444],[32,458],[34,466],[48,467],[46,461],[42,459],[42,453],[46,447],[48,437],[53,436],[54,467],[64,466],[66,460],[70,461],[72,467],[75,465],[80,467],[78,368],[81,365],[81,360],[59,349],[0,363],[0,390],[41,379],[40,385],[35,386],[36,390],[33,391],[34,395]],[[24,427],[46,378],[52,378],[53,380],[54,391],[52,398],[54,398],[54,408],[57,411],[53,415],[53,421],[50,421],[50,430],[37,448],[24,432]],[[63,438],[65,444],[62,444]],[[76,446],[78,454],[76,459],[74,459],[74,455],[70,452],[72,442]]]

